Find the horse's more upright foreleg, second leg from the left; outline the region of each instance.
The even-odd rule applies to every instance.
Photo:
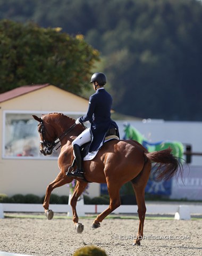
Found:
[[[85,190],[87,185],[88,185],[87,182],[77,181],[73,195],[70,200],[70,204],[72,206],[72,213],[73,213],[73,222],[75,224],[75,229],[77,230],[77,233],[82,233],[83,228],[84,228],[82,223],[79,223],[79,217],[77,215],[77,210],[76,210],[77,201],[78,201],[79,196]]]

